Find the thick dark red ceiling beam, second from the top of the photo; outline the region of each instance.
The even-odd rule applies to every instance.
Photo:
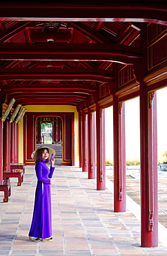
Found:
[[[92,60],[141,64],[142,50],[119,44],[0,44],[0,60]]]

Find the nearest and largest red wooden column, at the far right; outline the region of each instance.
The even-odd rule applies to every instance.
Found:
[[[156,95],[140,82],[141,246],[158,245]]]

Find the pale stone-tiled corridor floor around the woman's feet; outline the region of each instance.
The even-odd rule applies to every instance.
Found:
[[[140,247],[140,223],[127,210],[113,212],[110,189],[97,191],[95,180],[78,167],[57,166],[51,185],[54,241],[28,240],[36,177],[26,167],[24,182],[12,181],[12,196],[2,203],[0,192],[0,255],[167,255],[167,246]],[[110,181],[109,185],[110,185]],[[167,240],[166,240],[167,241]]]

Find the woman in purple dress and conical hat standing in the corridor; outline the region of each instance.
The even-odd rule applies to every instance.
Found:
[[[50,184],[55,170],[55,150],[50,147],[39,147],[32,153],[36,161],[37,188],[29,239],[31,241],[52,241],[52,217]],[[50,170],[46,163],[50,161]]]

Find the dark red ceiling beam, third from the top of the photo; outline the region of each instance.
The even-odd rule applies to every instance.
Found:
[[[97,82],[114,82],[115,78],[111,71],[94,68],[3,68],[0,71],[0,80],[92,80]]]

